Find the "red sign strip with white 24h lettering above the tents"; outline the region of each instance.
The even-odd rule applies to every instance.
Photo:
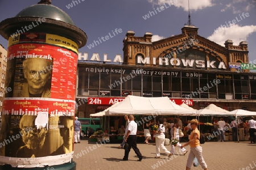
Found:
[[[115,104],[117,102],[121,102],[125,99],[125,97],[88,97],[88,104]],[[192,99],[171,99],[170,100],[175,104],[185,103],[187,105],[194,105]]]

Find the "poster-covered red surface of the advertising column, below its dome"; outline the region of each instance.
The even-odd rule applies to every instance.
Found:
[[[0,155],[26,167],[35,167],[38,160],[48,165],[68,162],[76,108],[75,42],[42,33],[44,41],[24,42],[22,36],[8,48]],[[53,156],[52,161],[46,156]]]

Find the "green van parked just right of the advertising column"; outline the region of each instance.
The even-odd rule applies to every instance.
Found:
[[[94,131],[97,131],[101,128],[100,118],[78,118],[82,126],[81,137],[84,137],[85,134],[88,135],[89,127]]]

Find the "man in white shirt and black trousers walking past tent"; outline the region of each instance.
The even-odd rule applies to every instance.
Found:
[[[129,124],[125,129],[125,142],[129,144],[129,147],[127,150],[125,150],[125,156],[123,156],[123,160],[128,160],[129,152],[131,150],[131,147],[133,148],[135,154],[138,156],[138,161],[142,160],[141,152],[139,151],[139,148],[137,147],[137,124],[134,121],[134,116],[129,116]]]

